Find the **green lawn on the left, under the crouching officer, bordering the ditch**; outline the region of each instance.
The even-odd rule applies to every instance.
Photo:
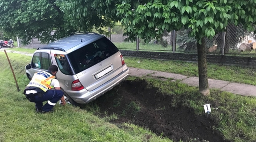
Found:
[[[135,125],[122,124],[126,127],[119,128],[89,110],[69,104],[64,107],[57,104],[51,114],[35,113],[34,103],[22,94],[29,82],[24,67],[31,57],[15,53],[8,56],[21,91],[17,91],[6,56],[0,52],[0,141],[171,142]],[[146,139],[145,135],[151,137]]]

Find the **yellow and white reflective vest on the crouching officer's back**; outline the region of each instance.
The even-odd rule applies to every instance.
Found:
[[[54,78],[55,76],[53,76],[51,73],[44,71],[36,72],[27,87],[38,87],[42,91],[46,92],[47,90],[51,89],[50,84]]]

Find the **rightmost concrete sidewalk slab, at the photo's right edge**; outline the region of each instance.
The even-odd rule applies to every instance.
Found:
[[[256,96],[256,86],[240,83],[230,83],[223,87],[221,91],[227,91],[244,96]]]

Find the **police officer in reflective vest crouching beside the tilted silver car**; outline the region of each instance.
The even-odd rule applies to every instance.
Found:
[[[60,83],[55,79],[57,71],[58,67],[52,65],[47,71],[35,73],[23,92],[30,102],[35,103],[38,113],[52,112],[52,108],[58,100],[61,100],[63,106],[66,104],[64,92],[61,91]],[[43,102],[47,100],[48,102],[43,106]]]

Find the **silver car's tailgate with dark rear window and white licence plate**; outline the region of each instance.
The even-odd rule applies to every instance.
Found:
[[[68,56],[78,80],[88,91],[122,72],[120,52],[106,37],[79,48]]]

